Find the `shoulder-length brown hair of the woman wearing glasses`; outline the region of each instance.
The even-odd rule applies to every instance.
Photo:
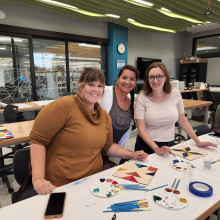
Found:
[[[144,78],[144,93],[146,95],[150,94],[152,92],[152,88],[150,87],[150,83],[149,83],[149,79],[148,79],[148,76],[149,76],[149,72],[154,69],[154,68],[157,68],[159,67],[163,73],[164,73],[164,76],[166,77],[166,81],[164,83],[164,86],[163,86],[163,90],[164,92],[170,94],[171,93],[171,90],[172,90],[172,86],[170,84],[170,76],[169,76],[169,73],[167,71],[167,68],[166,66],[161,63],[161,62],[154,62],[152,63],[148,69],[146,70],[145,72],[145,78]]]

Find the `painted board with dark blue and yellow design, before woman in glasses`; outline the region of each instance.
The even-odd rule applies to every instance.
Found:
[[[207,155],[207,153],[199,149],[196,149],[193,147],[187,147],[187,146],[174,147],[172,148],[172,153],[177,156],[183,157],[184,159],[187,159],[187,160],[194,160],[199,157],[203,157],[204,155]]]

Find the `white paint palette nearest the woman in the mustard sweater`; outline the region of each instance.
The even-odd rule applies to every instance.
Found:
[[[90,185],[90,192],[99,197],[111,197],[120,192],[119,188],[116,188],[117,181],[112,179],[100,178]]]

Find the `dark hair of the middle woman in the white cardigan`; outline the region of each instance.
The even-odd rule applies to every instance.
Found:
[[[123,73],[124,70],[131,70],[135,73],[135,77],[136,77],[136,81],[138,80],[139,78],[139,71],[136,67],[132,66],[132,65],[125,65],[123,66],[119,73],[118,73],[118,77],[117,78],[120,78],[121,74]],[[116,80],[115,80],[116,82]],[[115,85],[115,82],[114,82],[114,85]],[[131,104],[130,104],[130,109],[131,109],[131,115],[132,115],[132,119],[133,119],[133,122],[134,122],[134,125],[132,126],[132,129],[135,129],[136,128],[136,122],[134,120],[134,89],[132,91],[130,91],[130,96],[131,96]]]

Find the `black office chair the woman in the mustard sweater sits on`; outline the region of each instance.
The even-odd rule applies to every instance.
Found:
[[[20,188],[17,192],[11,194],[12,203],[37,195],[33,188],[32,176],[30,175],[30,148],[21,149],[15,153],[13,170],[15,180],[20,185]]]

